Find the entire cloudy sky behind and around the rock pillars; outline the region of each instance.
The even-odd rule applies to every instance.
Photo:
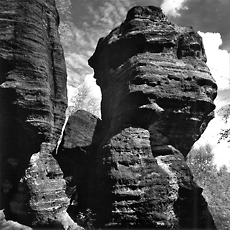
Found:
[[[119,26],[127,11],[136,5],[161,7],[169,21],[179,26],[192,26],[202,36],[207,65],[218,85],[216,110],[230,104],[230,0],[65,1],[68,2],[69,8],[60,16],[62,23],[67,25],[67,29],[62,33],[62,41],[68,72],[70,105],[78,85],[83,82],[90,87],[90,96],[100,103],[100,90],[93,79],[93,70],[88,66],[88,59],[92,56],[98,39]],[[221,119],[218,116],[210,122],[200,143],[211,140],[210,136],[222,127],[219,122]],[[213,139],[212,142],[217,141]],[[220,145],[213,146],[215,152],[225,152],[226,156],[230,156],[228,143],[224,143],[222,149],[217,146]],[[230,157],[228,161],[230,162]]]

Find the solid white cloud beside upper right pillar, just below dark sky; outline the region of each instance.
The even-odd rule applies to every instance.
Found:
[[[221,50],[219,47],[222,44],[222,39],[219,33],[203,33],[198,32],[203,38],[204,48],[207,55],[207,65],[217,82],[219,90],[230,88],[229,74],[229,54],[226,50]]]

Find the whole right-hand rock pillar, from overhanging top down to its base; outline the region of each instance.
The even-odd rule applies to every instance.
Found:
[[[215,229],[185,157],[213,118],[217,86],[201,37],[134,7],[89,60],[102,91],[95,190],[106,227]]]

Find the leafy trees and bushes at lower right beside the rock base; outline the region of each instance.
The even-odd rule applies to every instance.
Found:
[[[230,172],[226,166],[219,170],[213,162],[210,145],[192,149],[187,163],[196,183],[202,187],[218,230],[230,226]]]

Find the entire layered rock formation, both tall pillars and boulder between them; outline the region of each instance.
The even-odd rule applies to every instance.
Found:
[[[80,229],[67,209],[90,209],[101,228],[215,229],[185,162],[215,107],[201,37],[159,8],[131,9],[89,60],[102,120],[77,111],[58,145],[58,23],[54,0],[0,0],[0,226]]]

